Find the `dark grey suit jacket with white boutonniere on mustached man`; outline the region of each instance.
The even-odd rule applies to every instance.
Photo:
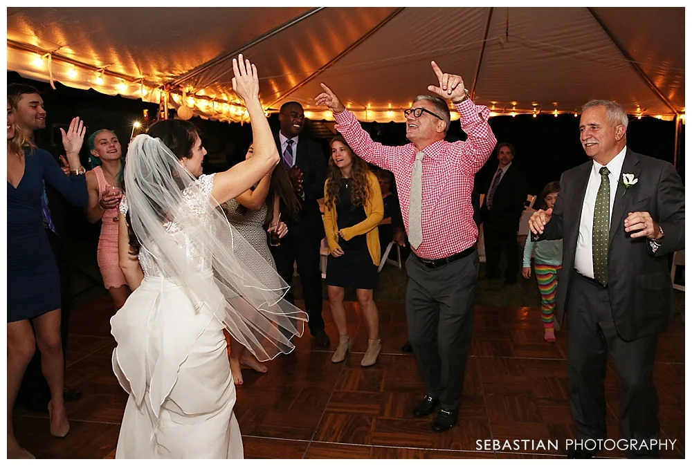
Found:
[[[563,268],[558,274],[556,296],[559,323],[565,312],[570,312],[566,305],[576,279],[574,257],[592,167],[590,160],[563,173],[552,218],[537,238],[563,239]],[[622,174],[634,174],[639,181],[626,189]],[[660,333],[668,325],[673,286],[666,256],[685,247],[684,194],[673,165],[627,150],[612,206],[608,245],[610,308],[617,332],[626,341]],[[665,236],[656,252],[648,239],[632,239],[625,231],[624,221],[630,212],[648,212],[662,226]]]

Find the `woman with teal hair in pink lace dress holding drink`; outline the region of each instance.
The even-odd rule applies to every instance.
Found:
[[[131,291],[118,265],[118,205],[122,197],[118,176],[122,169],[122,147],[116,133],[108,129],[93,133],[89,138],[89,158],[93,169],[86,172],[89,189],[86,218],[91,223],[101,221],[96,258],[103,286],[118,310]]]

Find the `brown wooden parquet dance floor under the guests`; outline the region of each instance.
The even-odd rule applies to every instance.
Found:
[[[299,303],[302,306],[302,303]],[[406,342],[403,304],[379,303],[383,353],[378,363],[360,366],[367,347],[358,304],[348,303],[352,355],[331,362],[338,337],[325,303],[331,351],[296,340],[291,355],[269,362],[266,374],[244,371],[236,416],[246,458],[548,458],[565,455],[574,438],[567,391],[567,335],[543,341],[540,311],[476,308],[475,333],[466,370],[464,398],[456,427],[442,434],[432,416],[415,419],[411,410],[424,394],[415,357]],[[71,433],[48,434],[47,413],[15,410],[15,432],[37,458],[113,458],[127,397],[111,370],[114,342],[107,295],[87,299],[73,310],[67,354],[67,384],[84,393],[67,404]],[[662,437],[675,439],[665,458],[684,458],[684,328],[671,323],[662,335],[655,381]],[[619,381],[612,366],[605,379],[608,433],[619,438]],[[558,450],[479,450],[478,440],[557,441]],[[484,445],[480,445],[483,447]],[[603,451],[603,456],[622,456]]]

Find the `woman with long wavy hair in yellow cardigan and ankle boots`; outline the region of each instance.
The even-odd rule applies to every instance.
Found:
[[[377,306],[372,299],[380,240],[377,225],[384,207],[377,177],[361,158],[354,155],[342,136],[331,140],[327,182],[325,183],[325,232],[331,257],[327,261],[327,291],[339,345],[331,357],[342,362],[351,349],[346,324],[344,288],[356,288],[367,324],[367,351],[361,366],[377,361],[382,344]]]

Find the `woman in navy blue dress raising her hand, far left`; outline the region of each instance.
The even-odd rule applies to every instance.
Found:
[[[12,408],[24,371],[38,346],[42,371],[51,389],[50,431],[68,434],[65,411],[64,356],[60,337],[60,277],[44,227],[44,183],[55,187],[71,203],[84,207],[89,200],[79,152],[84,124],[72,120],[62,131],[66,158],[73,176],[66,176],[50,153],[37,149],[26,131],[15,123],[7,105],[7,456],[33,458],[21,448],[12,429]],[[50,227],[50,225],[48,225]]]

